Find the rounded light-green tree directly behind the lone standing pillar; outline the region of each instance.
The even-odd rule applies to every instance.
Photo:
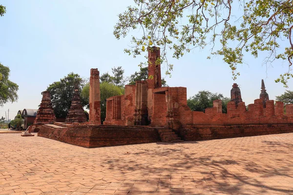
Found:
[[[100,84],[101,93],[101,121],[104,122],[106,118],[106,99],[112,96],[121,96],[124,94],[124,89],[116,86],[113,83],[102,82]],[[86,108],[89,109],[89,83],[87,83],[81,93],[82,99],[86,100]]]

